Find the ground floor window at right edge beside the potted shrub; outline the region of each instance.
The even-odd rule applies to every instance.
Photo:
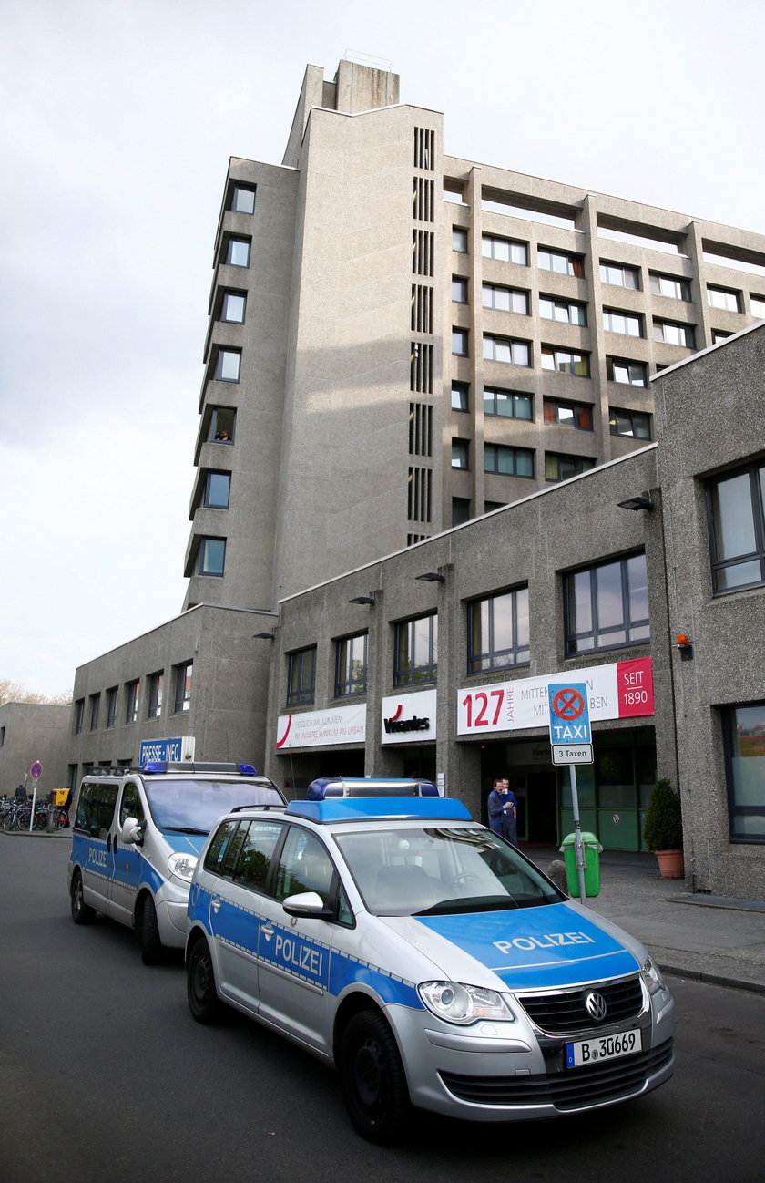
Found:
[[[731,838],[765,842],[765,703],[722,713]]]

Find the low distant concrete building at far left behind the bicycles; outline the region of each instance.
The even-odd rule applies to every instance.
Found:
[[[32,764],[43,765],[38,791],[69,787],[67,746],[72,709],[69,703],[4,703],[0,706],[0,793],[12,796],[17,784],[32,793]]]

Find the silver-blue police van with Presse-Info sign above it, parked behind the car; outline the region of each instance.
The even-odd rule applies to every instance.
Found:
[[[97,913],[135,929],[147,965],[183,948],[186,905],[199,852],[221,814],[284,804],[251,764],[157,761],[98,769],[77,801],[69,860],[74,924]]]

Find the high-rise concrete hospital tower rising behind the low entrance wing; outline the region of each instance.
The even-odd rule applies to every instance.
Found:
[[[231,161],[186,607],[272,608],[624,455],[650,374],[765,316],[761,234],[449,156],[443,122],[309,66],[281,166]]]

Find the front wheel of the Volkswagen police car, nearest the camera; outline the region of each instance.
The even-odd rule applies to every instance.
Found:
[[[362,1010],[341,1042],[339,1079],[354,1126],[368,1142],[394,1142],[409,1117],[409,1091],[394,1034],[378,1010]]]

